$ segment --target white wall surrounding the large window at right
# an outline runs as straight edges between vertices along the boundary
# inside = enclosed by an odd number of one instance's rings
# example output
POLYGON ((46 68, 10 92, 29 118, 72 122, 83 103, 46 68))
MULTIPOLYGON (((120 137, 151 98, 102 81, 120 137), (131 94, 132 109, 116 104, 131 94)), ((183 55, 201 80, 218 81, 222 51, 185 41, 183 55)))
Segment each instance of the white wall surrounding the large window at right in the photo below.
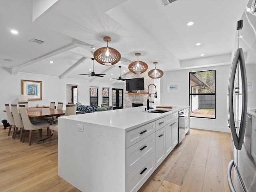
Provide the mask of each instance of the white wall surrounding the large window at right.
POLYGON ((161 78, 161 104, 189 106, 189 72, 216 70, 216 119, 190 118, 190 127, 230 132, 227 124, 227 94, 230 68, 231 65, 223 65, 164 72, 164 76, 161 78), (179 91, 168 93, 168 82, 179 82, 179 91))

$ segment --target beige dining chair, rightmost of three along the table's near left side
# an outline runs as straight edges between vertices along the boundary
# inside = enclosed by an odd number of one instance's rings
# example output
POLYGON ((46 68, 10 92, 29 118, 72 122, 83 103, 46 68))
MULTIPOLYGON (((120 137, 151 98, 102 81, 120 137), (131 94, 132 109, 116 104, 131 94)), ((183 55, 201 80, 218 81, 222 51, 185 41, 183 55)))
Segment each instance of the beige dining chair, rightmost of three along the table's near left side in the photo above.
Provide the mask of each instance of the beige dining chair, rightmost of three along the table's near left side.
POLYGON ((30 119, 28 118, 28 112, 24 105, 20 105, 20 114, 24 124, 24 128, 23 128, 24 133, 23 133, 22 143, 24 143, 25 141, 26 131, 29 130, 28 145, 31 145, 32 131, 39 130, 39 135, 40 137, 42 137, 42 128, 49 128, 50 124, 45 122, 40 122, 40 121, 31 122, 30 119))

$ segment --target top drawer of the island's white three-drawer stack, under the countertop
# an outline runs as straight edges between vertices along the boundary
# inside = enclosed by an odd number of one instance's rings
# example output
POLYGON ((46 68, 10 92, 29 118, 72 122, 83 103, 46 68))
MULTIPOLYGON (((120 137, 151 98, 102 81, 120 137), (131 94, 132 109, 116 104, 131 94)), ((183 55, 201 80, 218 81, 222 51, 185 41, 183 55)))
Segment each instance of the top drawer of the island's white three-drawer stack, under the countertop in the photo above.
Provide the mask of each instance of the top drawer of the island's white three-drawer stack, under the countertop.
POLYGON ((146 136, 155 132, 155 122, 143 125, 126 132, 126 148, 144 139, 146 136))

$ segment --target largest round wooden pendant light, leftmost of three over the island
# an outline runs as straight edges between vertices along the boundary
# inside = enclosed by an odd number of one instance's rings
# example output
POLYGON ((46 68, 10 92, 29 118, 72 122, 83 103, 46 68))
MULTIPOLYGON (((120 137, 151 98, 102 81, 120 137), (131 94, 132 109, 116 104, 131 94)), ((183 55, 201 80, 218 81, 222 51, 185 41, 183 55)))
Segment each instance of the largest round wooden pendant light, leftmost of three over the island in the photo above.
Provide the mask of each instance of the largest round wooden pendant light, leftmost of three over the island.
POLYGON ((103 40, 107 42, 107 46, 97 49, 93 54, 94 59, 102 65, 114 65, 120 61, 121 54, 118 50, 108 47, 111 37, 104 37, 103 40))

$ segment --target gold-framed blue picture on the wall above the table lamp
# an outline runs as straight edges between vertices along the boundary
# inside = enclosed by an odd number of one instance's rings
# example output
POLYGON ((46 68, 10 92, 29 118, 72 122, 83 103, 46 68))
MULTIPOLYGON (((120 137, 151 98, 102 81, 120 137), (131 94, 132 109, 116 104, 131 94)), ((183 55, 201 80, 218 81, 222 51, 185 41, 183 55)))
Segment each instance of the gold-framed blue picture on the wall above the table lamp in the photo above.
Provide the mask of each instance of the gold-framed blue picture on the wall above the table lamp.
POLYGON ((42 100, 42 81, 21 80, 21 94, 28 100, 42 100))

